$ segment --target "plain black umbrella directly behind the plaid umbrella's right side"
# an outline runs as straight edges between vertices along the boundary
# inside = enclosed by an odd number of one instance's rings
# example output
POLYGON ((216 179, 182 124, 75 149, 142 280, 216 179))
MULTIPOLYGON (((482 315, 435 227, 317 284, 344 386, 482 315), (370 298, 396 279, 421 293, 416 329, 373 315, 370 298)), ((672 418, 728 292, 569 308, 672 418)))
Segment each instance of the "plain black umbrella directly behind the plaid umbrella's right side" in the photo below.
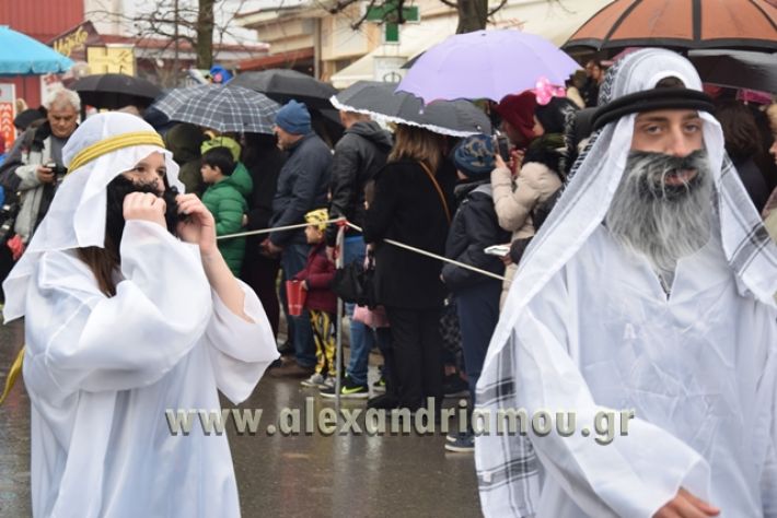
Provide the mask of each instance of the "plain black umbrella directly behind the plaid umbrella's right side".
POLYGON ((244 72, 227 84, 254 90, 281 104, 294 99, 318 109, 332 108, 328 99, 337 93, 330 84, 289 69, 244 72))

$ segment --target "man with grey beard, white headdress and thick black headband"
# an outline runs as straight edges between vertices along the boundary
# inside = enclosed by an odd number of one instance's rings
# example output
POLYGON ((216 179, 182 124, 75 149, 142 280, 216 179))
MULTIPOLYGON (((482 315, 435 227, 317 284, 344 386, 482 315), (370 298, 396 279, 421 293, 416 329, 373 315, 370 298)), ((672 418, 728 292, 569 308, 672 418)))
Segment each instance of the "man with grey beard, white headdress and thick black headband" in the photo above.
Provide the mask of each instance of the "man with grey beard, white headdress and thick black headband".
POLYGON ((478 382, 486 516, 777 516, 777 250, 700 91, 658 49, 602 84, 478 382), (510 409, 554 428, 499 434, 510 409))

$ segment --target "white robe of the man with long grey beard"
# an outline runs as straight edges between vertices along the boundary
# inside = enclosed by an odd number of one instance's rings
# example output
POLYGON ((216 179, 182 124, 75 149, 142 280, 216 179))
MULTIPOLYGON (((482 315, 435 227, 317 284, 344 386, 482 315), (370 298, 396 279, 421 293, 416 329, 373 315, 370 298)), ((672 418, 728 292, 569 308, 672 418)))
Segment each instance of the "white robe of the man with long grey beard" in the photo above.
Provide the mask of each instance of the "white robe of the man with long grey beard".
POLYGON ((645 259, 594 231, 513 331, 521 407, 578 421, 532 437, 536 516, 651 517, 681 486, 723 518, 777 516, 776 318, 740 295, 719 238, 679 262, 668 299, 645 259), (603 409, 634 409, 628 436, 581 435, 603 409))

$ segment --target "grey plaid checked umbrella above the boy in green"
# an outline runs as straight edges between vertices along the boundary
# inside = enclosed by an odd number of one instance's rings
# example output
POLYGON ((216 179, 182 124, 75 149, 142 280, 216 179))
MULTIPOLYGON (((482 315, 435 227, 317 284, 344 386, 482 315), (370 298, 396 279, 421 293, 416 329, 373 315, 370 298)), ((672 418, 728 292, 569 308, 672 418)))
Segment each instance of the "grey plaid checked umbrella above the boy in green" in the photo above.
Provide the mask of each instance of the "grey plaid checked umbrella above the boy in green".
POLYGON ((219 132, 272 133, 280 105, 253 90, 200 84, 175 89, 154 103, 171 120, 206 126, 219 132))

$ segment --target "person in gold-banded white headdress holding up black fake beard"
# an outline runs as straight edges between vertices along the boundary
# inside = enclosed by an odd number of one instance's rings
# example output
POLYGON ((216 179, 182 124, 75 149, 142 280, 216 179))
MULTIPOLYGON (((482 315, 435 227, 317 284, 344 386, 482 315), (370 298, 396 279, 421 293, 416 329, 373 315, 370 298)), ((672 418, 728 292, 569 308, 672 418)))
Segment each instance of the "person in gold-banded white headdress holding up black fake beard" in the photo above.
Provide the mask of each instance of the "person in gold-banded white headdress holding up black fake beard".
POLYGON ((3 287, 25 317, 35 516, 240 516, 227 437, 166 412, 220 414, 277 357, 232 276, 213 217, 162 139, 101 114, 62 151, 69 174, 3 287))

